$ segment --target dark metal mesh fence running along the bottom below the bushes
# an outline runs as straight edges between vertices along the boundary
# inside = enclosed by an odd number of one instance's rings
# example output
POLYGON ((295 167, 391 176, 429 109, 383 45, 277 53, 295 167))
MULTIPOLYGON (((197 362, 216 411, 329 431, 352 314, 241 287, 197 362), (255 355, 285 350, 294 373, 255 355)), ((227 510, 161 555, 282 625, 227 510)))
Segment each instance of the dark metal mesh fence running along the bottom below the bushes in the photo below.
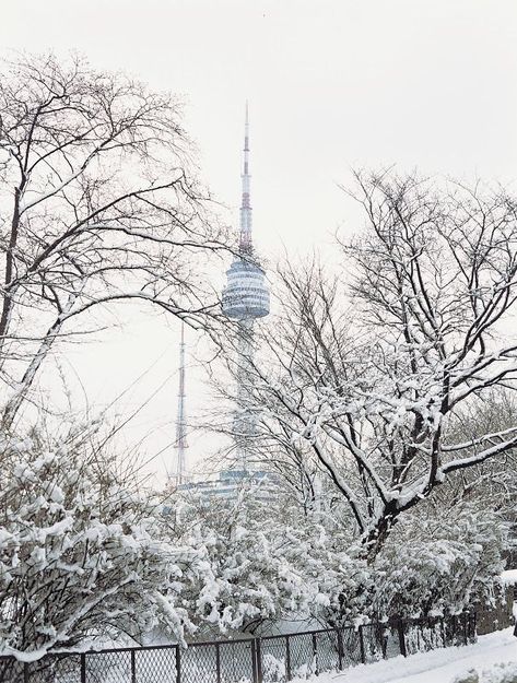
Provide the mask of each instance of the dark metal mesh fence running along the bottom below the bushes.
POLYGON ((475 614, 261 638, 0 657, 2 683, 283 683, 397 655, 475 641, 475 614))

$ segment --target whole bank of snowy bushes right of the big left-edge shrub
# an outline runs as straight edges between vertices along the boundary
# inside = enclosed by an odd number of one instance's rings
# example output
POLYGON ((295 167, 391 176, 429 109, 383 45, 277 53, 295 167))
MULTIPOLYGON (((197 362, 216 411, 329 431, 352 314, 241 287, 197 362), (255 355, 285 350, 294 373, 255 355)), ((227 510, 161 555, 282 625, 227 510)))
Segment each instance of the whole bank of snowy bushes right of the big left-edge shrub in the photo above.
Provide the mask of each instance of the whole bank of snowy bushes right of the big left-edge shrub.
POLYGON ((172 544, 196 549, 178 604, 201 632, 456 614, 500 596, 508 525, 473 504, 446 519, 423 506, 368 562, 330 515, 305 516, 280 492, 266 504, 243 494, 209 504, 184 497, 162 520, 172 544))

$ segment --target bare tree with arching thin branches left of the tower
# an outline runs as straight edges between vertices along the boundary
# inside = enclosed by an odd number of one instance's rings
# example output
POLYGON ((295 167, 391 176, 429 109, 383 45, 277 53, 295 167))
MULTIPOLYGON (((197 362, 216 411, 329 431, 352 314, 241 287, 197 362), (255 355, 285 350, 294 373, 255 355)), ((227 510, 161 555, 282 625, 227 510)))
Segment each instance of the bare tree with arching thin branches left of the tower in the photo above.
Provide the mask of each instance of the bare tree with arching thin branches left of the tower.
POLYGON ((121 74, 52 56, 0 81, 0 378, 12 423, 56 339, 121 299, 191 323, 213 313, 209 226, 180 106, 121 74), (73 322, 72 322, 73 319, 73 322))

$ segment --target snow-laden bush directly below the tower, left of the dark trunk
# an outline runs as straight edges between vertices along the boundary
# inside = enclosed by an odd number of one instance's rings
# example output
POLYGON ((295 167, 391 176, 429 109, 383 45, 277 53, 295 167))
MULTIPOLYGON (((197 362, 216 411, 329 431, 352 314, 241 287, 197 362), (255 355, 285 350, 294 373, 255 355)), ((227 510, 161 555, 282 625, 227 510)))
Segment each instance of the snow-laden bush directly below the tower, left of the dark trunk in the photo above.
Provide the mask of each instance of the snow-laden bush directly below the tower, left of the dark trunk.
POLYGON ((164 515, 172 542, 198 552, 180 604, 202 629, 252 629, 328 603, 324 530, 294 526, 274 509, 252 496, 209 505, 190 497, 164 515))

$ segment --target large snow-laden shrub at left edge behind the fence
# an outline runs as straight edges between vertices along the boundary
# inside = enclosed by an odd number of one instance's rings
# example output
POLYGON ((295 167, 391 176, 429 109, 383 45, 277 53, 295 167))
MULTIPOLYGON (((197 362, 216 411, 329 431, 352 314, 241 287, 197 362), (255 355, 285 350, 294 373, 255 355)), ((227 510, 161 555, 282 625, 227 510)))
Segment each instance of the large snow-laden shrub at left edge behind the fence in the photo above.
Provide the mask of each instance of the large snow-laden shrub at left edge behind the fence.
POLYGON ((2 444, 2 653, 138 638, 157 624, 181 638, 174 597, 195 552, 162 540, 149 498, 120 481, 91 432, 2 444))

